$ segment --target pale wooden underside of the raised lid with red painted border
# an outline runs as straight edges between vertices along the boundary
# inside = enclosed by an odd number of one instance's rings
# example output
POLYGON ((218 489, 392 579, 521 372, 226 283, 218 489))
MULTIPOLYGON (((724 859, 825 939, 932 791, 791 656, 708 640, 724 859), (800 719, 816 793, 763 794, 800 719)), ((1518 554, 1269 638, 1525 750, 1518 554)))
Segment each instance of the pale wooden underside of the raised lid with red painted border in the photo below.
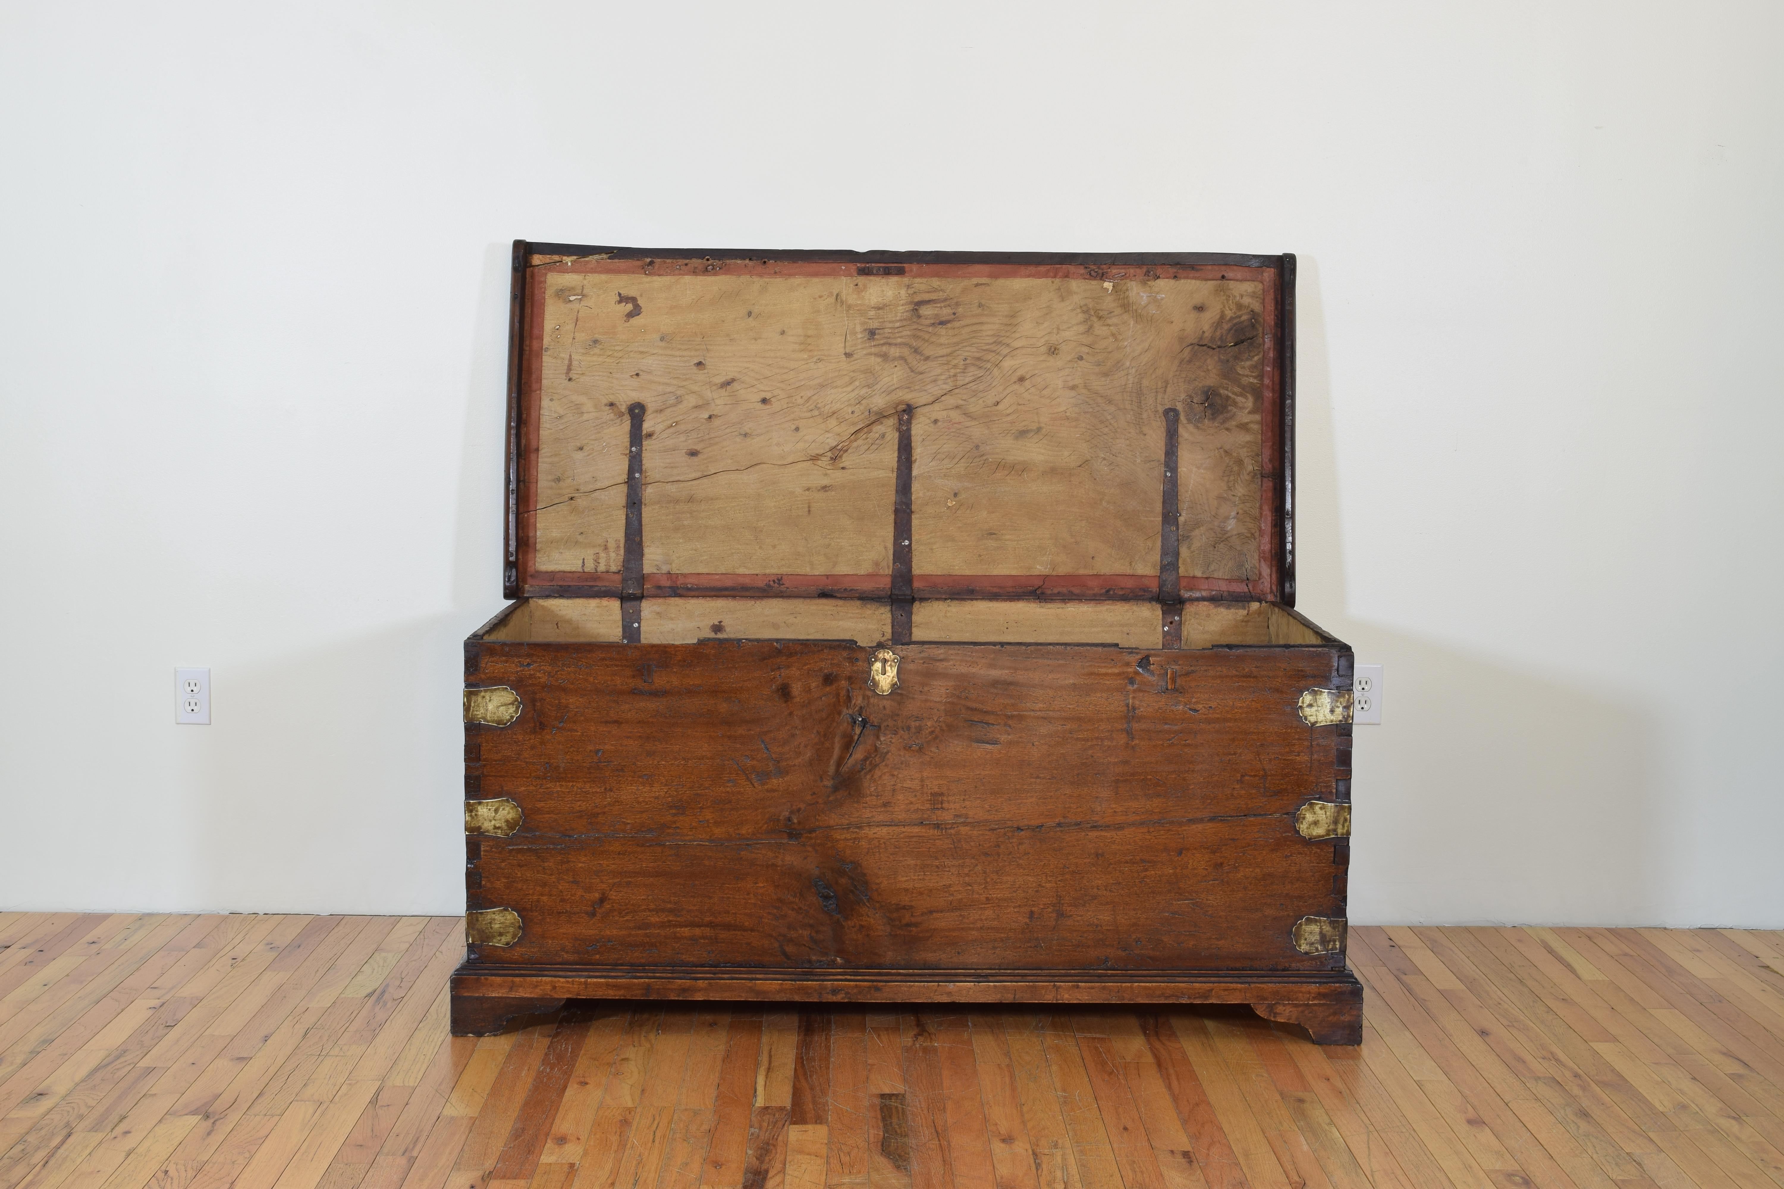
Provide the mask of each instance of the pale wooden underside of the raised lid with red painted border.
POLYGON ((1260 579, 1267 271, 640 267, 535 267, 533 572, 621 569, 640 401, 648 572, 887 574, 910 403, 919 574, 1156 574, 1179 408, 1181 572, 1260 579))

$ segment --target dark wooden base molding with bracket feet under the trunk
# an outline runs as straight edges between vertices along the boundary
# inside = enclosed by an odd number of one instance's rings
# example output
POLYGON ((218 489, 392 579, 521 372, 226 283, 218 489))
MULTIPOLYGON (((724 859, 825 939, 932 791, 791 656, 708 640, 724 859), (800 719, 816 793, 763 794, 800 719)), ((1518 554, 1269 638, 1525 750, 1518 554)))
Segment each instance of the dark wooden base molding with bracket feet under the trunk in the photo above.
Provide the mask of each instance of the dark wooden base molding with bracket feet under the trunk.
POLYGON ((1247 1004, 1318 1045, 1363 1039, 1363 984, 1318 973, 1193 972, 1072 977, 999 970, 610 970, 469 961, 451 977, 453 1036, 501 1032, 571 998, 769 1000, 803 1004, 1247 1004))

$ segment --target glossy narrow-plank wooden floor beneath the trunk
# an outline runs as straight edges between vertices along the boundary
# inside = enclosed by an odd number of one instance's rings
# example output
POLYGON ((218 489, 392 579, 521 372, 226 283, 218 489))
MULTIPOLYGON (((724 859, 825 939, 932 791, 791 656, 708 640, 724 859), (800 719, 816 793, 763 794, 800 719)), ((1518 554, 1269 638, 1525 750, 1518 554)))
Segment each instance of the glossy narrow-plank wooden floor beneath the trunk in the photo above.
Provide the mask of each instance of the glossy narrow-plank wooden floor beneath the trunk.
POLYGON ((573 1005, 457 918, 0 914, 0 1189, 1784 1185, 1784 934, 1358 929, 1249 1011, 573 1005))

